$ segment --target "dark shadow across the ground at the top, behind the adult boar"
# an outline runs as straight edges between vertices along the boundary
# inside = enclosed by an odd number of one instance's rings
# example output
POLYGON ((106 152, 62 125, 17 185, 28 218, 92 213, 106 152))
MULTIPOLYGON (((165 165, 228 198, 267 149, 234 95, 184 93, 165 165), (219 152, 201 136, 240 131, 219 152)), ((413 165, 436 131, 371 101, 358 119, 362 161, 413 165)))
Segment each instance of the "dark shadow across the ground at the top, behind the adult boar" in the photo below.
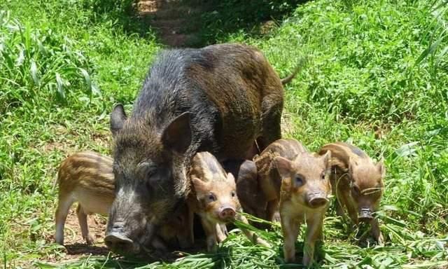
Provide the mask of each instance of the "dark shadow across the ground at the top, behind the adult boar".
POLYGON ((201 47, 244 31, 262 35, 307 0, 85 0, 94 20, 169 47, 201 47))

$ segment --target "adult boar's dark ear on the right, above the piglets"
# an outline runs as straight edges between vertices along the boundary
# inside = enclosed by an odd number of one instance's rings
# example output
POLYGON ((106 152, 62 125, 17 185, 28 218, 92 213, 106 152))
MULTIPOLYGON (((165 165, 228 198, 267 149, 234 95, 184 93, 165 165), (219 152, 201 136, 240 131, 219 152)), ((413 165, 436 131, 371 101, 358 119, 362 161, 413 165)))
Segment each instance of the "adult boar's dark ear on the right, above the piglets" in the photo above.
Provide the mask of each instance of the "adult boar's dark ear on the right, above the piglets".
POLYGON ((165 127, 162 143, 168 149, 184 153, 191 144, 190 112, 182 113, 165 127))

